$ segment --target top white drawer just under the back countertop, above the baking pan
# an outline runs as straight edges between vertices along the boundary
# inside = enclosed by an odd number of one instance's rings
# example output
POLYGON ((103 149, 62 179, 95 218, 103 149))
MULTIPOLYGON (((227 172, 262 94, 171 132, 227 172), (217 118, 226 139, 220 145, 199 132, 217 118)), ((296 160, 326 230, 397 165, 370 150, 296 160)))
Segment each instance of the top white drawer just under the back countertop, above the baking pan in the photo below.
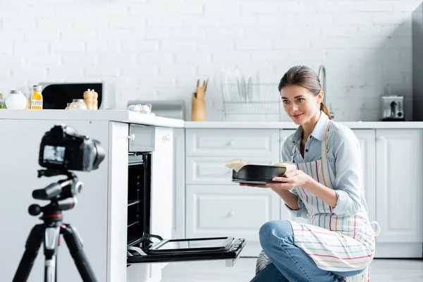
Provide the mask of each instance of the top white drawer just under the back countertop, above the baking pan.
POLYGON ((277 129, 188 129, 187 156, 278 157, 277 129))

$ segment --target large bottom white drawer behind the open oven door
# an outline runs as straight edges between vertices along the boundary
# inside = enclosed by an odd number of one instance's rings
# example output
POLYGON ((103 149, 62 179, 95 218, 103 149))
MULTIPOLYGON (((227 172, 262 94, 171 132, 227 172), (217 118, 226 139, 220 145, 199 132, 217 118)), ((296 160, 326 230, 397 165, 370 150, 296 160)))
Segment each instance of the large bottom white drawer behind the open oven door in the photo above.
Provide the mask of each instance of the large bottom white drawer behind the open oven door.
POLYGON ((267 188, 187 185, 187 238, 231 235, 259 241, 259 228, 278 220, 280 197, 267 188))

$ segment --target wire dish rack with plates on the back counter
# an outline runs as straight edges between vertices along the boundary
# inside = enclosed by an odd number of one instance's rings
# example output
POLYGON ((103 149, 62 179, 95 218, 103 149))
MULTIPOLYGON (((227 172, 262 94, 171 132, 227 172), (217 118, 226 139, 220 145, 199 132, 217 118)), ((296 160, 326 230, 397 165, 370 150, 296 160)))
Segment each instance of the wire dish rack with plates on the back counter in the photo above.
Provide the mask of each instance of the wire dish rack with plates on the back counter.
POLYGON ((224 121, 280 121, 281 94, 274 83, 222 84, 224 121))

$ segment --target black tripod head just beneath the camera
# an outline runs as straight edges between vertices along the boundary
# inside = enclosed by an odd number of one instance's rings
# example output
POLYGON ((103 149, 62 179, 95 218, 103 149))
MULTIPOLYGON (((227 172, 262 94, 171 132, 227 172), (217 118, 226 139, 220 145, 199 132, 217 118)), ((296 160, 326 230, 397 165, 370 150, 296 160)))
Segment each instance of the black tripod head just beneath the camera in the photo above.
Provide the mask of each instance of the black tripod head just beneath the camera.
POLYGON ((39 204, 31 204, 28 212, 32 216, 44 213, 42 216, 44 220, 61 221, 61 212, 75 207, 77 203, 75 195, 81 192, 82 182, 74 173, 71 171, 50 168, 38 171, 38 178, 42 176, 52 177, 60 175, 67 176, 67 178, 51 183, 45 188, 32 191, 32 197, 34 199, 50 200, 50 203, 44 207, 39 206, 39 204))

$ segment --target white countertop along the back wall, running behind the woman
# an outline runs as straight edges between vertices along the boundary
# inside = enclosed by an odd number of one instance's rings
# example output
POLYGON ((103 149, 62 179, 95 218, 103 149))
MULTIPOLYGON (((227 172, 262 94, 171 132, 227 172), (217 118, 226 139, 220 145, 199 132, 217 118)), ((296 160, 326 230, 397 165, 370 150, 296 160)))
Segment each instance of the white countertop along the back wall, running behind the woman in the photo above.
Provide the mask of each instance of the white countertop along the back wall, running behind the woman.
MULTIPOLYGON (((351 129, 423 128, 423 121, 339 121, 351 129)), ((185 128, 296 129, 292 122, 185 121, 185 128)))

